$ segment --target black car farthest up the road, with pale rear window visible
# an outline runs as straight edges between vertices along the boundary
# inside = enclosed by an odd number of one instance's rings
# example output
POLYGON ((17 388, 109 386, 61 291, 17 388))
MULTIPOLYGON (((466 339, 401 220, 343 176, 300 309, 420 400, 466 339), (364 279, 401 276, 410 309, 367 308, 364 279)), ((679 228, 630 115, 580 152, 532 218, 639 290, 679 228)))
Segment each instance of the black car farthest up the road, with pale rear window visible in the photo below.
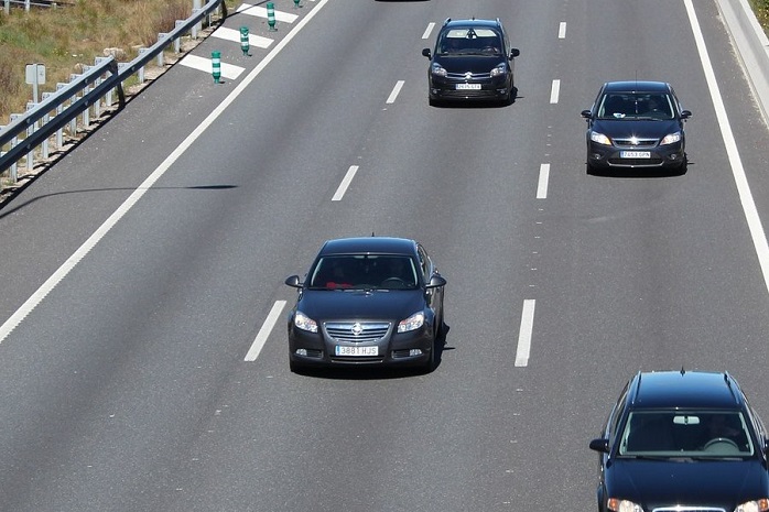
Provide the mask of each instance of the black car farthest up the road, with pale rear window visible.
POLYGON ((516 99, 513 79, 518 48, 501 21, 447 19, 435 41, 434 52, 422 50, 430 58, 427 69, 430 105, 440 100, 516 99))

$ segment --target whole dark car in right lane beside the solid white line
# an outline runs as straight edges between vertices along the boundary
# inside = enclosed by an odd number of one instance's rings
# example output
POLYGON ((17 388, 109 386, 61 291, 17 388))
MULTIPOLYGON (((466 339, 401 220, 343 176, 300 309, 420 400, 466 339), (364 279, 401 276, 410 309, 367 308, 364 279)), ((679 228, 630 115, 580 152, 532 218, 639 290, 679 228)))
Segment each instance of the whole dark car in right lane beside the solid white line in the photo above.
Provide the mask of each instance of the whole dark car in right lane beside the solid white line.
POLYGON ((587 120, 587 174, 597 171, 663 170, 686 172, 683 110, 664 81, 607 81, 587 120))

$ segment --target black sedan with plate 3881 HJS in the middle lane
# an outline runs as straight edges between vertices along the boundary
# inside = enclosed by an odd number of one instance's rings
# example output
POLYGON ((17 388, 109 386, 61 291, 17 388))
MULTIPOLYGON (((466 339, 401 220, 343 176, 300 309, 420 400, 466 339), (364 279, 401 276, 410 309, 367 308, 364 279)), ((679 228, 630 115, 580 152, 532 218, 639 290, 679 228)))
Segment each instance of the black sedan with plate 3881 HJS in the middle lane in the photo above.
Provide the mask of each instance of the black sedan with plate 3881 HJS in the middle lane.
POLYGON ((441 276, 427 251, 404 238, 326 241, 289 316, 289 363, 303 367, 436 366, 443 335, 441 276))

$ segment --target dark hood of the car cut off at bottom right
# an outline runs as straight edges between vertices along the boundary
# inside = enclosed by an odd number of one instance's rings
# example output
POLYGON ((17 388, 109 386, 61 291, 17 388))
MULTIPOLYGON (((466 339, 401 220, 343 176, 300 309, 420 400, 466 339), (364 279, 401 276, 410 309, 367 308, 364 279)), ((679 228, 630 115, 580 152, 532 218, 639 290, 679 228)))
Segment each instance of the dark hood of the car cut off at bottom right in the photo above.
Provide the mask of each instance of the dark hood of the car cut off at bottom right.
POLYGON ((768 492, 767 471, 758 460, 615 459, 606 476, 610 495, 635 501, 643 510, 680 504, 732 511, 768 492))

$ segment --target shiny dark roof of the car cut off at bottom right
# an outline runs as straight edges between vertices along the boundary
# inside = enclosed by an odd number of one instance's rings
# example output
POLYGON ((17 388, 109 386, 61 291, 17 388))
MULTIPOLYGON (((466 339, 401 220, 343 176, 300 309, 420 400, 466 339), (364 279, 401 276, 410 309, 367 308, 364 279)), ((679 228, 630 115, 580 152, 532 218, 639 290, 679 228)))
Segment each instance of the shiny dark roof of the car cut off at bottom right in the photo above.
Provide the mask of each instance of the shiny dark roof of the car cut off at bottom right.
POLYGON ((630 385, 632 408, 743 407, 743 392, 728 373, 660 371, 638 373, 630 385))

